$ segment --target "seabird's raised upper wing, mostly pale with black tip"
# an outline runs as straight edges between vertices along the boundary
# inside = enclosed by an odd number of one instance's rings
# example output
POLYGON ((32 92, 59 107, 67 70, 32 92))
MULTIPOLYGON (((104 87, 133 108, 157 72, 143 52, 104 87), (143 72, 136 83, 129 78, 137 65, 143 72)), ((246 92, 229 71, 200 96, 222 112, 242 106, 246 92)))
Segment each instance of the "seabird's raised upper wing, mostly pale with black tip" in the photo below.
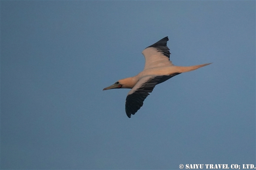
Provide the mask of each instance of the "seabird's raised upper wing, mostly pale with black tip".
POLYGON ((163 66, 173 66, 170 61, 170 49, 167 47, 168 37, 157 41, 155 44, 150 45, 142 51, 145 57, 145 67, 144 69, 163 67, 163 66))

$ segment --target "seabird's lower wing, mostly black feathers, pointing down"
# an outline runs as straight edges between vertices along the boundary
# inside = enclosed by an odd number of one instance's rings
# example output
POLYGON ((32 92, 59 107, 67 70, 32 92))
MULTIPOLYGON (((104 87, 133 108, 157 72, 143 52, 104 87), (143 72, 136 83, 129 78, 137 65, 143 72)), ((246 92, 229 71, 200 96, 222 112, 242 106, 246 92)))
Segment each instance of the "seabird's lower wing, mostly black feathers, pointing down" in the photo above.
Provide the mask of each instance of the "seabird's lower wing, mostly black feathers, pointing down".
POLYGON ((135 114, 143 105, 143 101, 152 92, 155 85, 162 83, 169 78, 174 77, 180 73, 172 75, 147 75, 142 77, 138 83, 131 89, 126 97, 125 112, 130 118, 131 114, 135 114))

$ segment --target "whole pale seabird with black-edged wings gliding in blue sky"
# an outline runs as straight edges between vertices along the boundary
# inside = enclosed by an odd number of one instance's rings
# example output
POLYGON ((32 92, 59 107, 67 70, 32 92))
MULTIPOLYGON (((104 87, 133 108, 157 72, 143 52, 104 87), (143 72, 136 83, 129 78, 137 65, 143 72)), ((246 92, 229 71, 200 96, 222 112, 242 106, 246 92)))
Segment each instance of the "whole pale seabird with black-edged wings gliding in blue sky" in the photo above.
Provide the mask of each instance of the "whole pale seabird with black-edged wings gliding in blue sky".
POLYGON ((157 41, 142 51, 145 57, 145 66, 142 72, 134 77, 128 77, 116 81, 109 89, 131 89, 126 96, 125 112, 131 118, 143 105, 144 100, 152 92, 157 84, 181 74, 207 66, 212 63, 194 66, 175 66, 170 61, 170 49, 167 47, 168 36, 157 41))

